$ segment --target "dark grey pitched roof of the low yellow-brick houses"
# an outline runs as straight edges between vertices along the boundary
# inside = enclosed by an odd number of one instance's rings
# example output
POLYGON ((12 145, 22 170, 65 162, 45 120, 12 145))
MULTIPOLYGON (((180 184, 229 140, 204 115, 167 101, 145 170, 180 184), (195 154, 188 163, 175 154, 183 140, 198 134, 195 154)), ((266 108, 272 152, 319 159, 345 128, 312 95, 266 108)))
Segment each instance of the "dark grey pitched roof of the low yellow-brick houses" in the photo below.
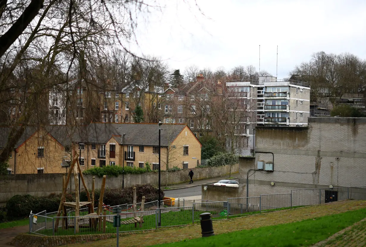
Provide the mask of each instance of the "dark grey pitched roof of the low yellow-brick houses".
MULTIPOLYGON (((168 146, 186 127, 185 124, 163 124, 161 126, 161 146, 168 146)), ((15 148, 22 145, 37 127, 26 127, 15 148)), ((78 143, 107 143, 114 136, 119 144, 134 146, 157 146, 158 124, 146 123, 91 123, 88 126, 45 126, 44 129, 63 146, 78 143)), ((4 147, 8 140, 10 127, 0 128, 0 147, 4 147)))

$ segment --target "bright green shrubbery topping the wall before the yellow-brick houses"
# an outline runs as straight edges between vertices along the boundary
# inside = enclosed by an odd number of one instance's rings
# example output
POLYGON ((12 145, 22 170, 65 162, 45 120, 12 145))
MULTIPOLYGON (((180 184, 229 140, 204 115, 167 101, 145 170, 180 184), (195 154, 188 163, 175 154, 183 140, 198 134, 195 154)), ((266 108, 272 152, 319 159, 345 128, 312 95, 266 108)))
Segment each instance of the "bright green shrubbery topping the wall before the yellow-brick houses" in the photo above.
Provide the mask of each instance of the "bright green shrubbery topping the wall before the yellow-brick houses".
MULTIPOLYGON (((123 167, 122 166, 115 166, 115 165, 108 165, 104 167, 93 167, 90 169, 87 169, 83 173, 85 175, 93 175, 102 177, 103 175, 107 176, 115 176, 118 177, 118 175, 122 175, 123 167)), ((140 174, 147 172, 147 168, 139 168, 139 167, 130 167, 125 166, 124 167, 124 174, 131 173, 131 174, 140 174)))

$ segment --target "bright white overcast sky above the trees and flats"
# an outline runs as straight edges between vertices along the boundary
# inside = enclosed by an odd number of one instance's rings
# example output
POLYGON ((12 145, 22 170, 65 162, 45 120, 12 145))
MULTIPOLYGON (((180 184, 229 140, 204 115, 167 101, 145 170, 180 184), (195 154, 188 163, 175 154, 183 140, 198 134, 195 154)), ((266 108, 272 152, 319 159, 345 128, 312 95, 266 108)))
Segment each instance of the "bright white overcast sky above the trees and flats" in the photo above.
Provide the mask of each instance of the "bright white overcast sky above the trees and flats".
POLYGON ((279 79, 321 50, 366 59, 365 0, 197 0, 204 15, 187 1, 167 0, 161 12, 140 18, 131 50, 183 73, 191 64, 258 70, 261 45, 261 70, 276 76, 278 45, 279 79))

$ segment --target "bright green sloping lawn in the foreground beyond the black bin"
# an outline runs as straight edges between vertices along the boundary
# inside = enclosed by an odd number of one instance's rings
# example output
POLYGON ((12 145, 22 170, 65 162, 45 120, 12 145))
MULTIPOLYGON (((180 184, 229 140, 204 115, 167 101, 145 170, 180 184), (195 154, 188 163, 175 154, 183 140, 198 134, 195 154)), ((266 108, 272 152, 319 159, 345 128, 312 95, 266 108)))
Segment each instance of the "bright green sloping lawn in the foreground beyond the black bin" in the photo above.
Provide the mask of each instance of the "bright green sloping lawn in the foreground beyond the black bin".
POLYGON ((363 208, 320 218, 223 233, 205 238, 184 239, 180 242, 154 246, 310 246, 365 217, 366 208, 363 208))

